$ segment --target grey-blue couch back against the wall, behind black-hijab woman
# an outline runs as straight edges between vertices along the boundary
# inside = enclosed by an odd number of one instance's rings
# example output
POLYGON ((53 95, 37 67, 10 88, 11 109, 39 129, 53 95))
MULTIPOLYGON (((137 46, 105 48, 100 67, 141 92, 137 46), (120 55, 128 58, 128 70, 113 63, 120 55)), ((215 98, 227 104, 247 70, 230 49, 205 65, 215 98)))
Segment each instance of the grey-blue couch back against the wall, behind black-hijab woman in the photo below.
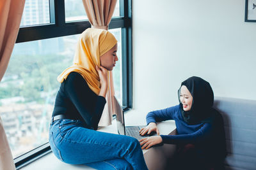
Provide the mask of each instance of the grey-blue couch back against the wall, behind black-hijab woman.
POLYGON ((226 169, 256 169, 256 101, 215 97, 225 126, 226 169))

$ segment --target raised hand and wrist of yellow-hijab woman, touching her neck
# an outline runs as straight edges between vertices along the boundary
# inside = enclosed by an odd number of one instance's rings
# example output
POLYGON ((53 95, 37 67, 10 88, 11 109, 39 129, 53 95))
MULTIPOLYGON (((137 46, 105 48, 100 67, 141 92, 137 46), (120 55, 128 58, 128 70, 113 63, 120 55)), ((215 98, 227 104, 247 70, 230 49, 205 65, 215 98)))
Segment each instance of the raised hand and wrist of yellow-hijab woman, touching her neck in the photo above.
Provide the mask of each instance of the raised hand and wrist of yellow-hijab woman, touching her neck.
POLYGON ((96 66, 96 70, 100 77, 100 92, 99 96, 106 97, 106 93, 108 90, 108 70, 102 66, 96 66))

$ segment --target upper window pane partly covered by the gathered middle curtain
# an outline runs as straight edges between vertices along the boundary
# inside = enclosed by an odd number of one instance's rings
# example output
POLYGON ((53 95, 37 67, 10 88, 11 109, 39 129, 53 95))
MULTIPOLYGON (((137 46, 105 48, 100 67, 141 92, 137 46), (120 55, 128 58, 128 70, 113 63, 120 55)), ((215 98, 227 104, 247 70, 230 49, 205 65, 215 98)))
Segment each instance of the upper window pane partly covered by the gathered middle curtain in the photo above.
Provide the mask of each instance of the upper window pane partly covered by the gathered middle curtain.
MULTIPOLYGON (((119 4, 119 1, 117 1, 113 17, 120 16, 119 4)), ((65 0, 65 20, 66 22, 88 20, 82 1, 65 0)))

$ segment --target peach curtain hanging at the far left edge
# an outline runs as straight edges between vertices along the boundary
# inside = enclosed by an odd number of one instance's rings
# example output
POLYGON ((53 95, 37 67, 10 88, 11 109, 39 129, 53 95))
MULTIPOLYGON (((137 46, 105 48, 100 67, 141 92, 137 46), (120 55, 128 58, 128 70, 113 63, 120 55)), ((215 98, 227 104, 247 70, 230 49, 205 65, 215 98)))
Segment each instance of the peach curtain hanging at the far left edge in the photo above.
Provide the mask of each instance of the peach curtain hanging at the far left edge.
MULTIPOLYGON (((8 66, 19 32, 25 0, 0 1, 0 81, 8 66)), ((15 169, 12 152, 0 117, 0 169, 15 169)))

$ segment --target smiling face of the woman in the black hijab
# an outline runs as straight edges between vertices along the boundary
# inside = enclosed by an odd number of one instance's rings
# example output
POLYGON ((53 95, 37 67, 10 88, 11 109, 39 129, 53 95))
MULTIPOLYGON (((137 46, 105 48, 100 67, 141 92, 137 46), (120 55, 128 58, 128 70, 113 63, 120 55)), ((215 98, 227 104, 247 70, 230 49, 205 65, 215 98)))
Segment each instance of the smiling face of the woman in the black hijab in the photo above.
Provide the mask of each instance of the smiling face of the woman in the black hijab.
POLYGON ((191 110, 191 106, 193 104, 193 97, 191 96, 191 93, 185 85, 182 85, 182 87, 180 88, 180 103, 182 103, 184 111, 191 110))

